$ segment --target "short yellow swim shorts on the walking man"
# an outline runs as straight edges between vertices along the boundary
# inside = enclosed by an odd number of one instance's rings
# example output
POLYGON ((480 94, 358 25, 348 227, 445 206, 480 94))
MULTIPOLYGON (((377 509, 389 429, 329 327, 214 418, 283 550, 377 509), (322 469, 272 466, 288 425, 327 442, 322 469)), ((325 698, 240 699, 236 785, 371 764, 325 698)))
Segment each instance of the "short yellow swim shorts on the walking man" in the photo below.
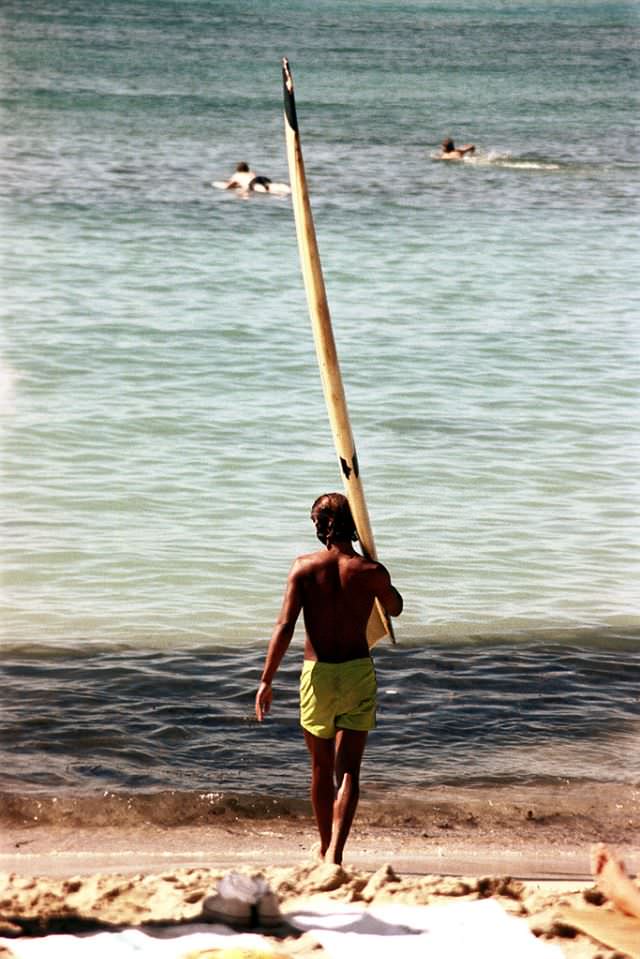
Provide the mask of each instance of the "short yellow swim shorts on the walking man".
POLYGON ((305 659, 300 674, 300 725, 321 739, 332 739, 336 729, 375 729, 377 688, 370 656, 346 663, 305 659))

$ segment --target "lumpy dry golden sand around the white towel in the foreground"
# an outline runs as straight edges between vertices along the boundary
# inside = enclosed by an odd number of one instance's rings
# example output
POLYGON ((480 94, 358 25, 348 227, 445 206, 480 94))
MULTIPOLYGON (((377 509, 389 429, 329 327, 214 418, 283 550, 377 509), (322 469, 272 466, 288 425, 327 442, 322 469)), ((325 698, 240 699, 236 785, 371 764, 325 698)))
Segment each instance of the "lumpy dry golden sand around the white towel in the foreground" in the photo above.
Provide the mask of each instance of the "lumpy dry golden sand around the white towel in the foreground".
MULTIPOLYGON (((264 876, 277 893, 285 914, 302 904, 326 906, 328 900, 430 905, 491 896, 509 913, 526 919, 536 935, 559 944, 568 959, 613 959, 624 955, 581 933, 562 918, 563 906, 611 908, 592 883, 523 882, 502 876, 402 875, 389 865, 371 873, 315 862, 260 870, 243 867, 243 871, 264 876)), ((215 891, 216 881, 224 872, 201 866, 151 874, 95 873, 66 879, 7 875, 0 889, 0 935, 33 936, 202 921, 203 900, 215 891)), ((277 936, 279 951, 286 955, 321 953, 311 933, 299 936, 283 925, 268 934, 277 936)), ((10 956, 11 951, 4 955, 10 956)))

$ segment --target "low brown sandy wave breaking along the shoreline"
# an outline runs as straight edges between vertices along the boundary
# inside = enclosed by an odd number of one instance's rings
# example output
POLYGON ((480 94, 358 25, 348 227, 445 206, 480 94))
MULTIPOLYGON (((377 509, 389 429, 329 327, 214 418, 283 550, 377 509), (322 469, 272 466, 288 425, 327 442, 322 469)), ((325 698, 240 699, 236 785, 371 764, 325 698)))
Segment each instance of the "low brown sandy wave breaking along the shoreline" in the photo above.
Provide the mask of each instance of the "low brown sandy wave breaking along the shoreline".
MULTIPOLYGON (((526 783, 487 778, 475 781, 473 777, 466 777, 464 782, 455 785, 438 782, 420 789, 406 786, 402 781, 387 787, 371 784, 361 797, 358 821, 361 826, 407 828, 419 823, 433 823, 446 809, 447 822, 455 829, 470 822, 475 825, 479 809, 483 810, 486 825, 492 817, 504 823, 505 817, 513 819, 514 815, 522 822, 530 822, 532 814, 524 810, 535 808, 541 813, 540 821, 544 817, 547 824, 555 821, 562 827, 563 821, 570 818, 574 823, 589 823, 592 827, 597 814, 594 789, 597 789, 599 815, 610 828, 623 828, 622 824, 628 821, 636 807, 636 786, 602 777, 586 777, 573 782, 564 777, 552 777, 526 783)), ((37 827, 90 829, 93 836, 98 836, 96 830, 107 828, 113 836, 117 830, 148 830, 150 826, 196 829, 233 825, 251 829, 260 822, 276 820, 281 824, 311 821, 310 801, 282 795, 185 790, 94 795, 0 792, 0 825, 12 830, 37 827)), ((28 855, 28 851, 25 852, 28 855)))

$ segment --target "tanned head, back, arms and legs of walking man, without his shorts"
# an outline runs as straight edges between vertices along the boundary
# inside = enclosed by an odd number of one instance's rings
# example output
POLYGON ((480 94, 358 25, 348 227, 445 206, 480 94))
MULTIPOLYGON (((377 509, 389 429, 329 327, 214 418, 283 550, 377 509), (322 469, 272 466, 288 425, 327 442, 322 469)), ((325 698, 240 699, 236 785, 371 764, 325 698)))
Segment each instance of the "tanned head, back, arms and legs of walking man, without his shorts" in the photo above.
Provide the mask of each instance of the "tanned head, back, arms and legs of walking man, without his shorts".
MULTIPOLYGON (((340 493, 319 497, 311 517, 325 548, 299 556, 289 573, 256 695, 259 721, 271 706, 271 683, 301 611, 304 658, 319 663, 346 663, 370 656, 367 623, 376 598, 389 615, 402 612, 402 597, 385 567, 361 556, 352 546, 355 528, 346 498, 340 493)), ((320 855, 328 862, 341 863, 358 804, 367 732, 337 728, 335 736, 324 738, 305 729, 304 735, 311 756, 311 799, 320 855)))

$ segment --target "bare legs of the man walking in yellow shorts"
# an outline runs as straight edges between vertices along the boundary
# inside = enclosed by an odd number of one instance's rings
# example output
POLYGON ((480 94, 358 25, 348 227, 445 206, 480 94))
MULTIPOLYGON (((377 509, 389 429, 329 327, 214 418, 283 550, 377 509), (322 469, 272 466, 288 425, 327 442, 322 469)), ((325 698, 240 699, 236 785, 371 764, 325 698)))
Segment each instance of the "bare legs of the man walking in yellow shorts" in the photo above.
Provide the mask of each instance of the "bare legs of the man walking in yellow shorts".
POLYGON ((360 798, 360 766, 367 733, 339 729, 334 739, 304 731, 311 754, 311 802, 320 833, 320 855, 340 864, 360 798))

